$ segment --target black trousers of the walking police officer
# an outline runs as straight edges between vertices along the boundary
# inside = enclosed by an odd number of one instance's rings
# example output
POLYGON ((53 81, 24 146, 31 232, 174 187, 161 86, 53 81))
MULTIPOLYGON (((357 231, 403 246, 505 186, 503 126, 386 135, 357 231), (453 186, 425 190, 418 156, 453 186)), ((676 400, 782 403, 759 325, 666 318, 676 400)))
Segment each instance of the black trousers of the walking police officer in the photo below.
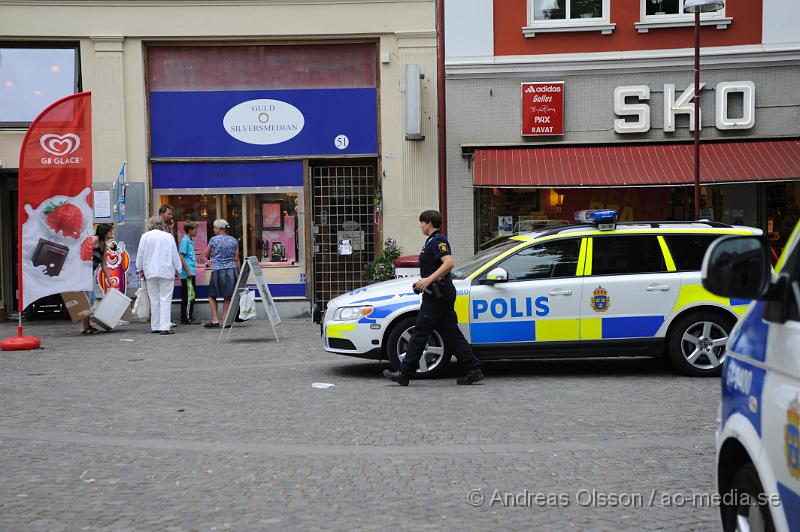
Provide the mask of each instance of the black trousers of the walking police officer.
POLYGON ((455 301, 456 289, 451 282, 445 283, 441 298, 429 294, 422 295, 422 306, 417 314, 414 333, 406 346, 406 357, 403 359, 400 371, 408 376, 414 375, 419 368, 419 359, 425 350, 428 336, 434 329, 442 336, 447 352, 453 353, 467 371, 481 367, 475 358, 475 353, 472 352, 472 346, 458 328, 458 318, 453 309, 455 301))

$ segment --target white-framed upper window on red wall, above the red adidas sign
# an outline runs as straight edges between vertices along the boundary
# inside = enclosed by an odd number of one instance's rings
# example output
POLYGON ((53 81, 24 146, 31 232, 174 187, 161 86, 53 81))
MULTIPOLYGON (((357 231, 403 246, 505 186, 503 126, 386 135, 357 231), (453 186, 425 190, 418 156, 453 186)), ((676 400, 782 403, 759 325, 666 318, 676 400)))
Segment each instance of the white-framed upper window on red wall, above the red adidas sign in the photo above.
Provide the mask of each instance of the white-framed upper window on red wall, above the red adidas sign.
POLYGON ((526 37, 537 33, 599 31, 610 34, 610 0, 528 0, 526 37))

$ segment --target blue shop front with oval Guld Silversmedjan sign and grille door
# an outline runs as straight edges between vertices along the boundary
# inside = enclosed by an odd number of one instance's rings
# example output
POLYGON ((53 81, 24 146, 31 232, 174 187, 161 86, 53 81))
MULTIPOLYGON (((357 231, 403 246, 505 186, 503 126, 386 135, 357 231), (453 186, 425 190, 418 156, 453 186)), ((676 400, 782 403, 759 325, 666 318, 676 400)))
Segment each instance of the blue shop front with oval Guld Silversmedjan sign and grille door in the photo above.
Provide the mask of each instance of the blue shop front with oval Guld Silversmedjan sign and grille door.
POLYGON ((199 299, 217 218, 243 258, 258 258, 276 299, 324 304, 364 284, 380 242, 376 50, 149 47, 151 211, 174 207, 178 240, 186 221, 199 224, 199 299))

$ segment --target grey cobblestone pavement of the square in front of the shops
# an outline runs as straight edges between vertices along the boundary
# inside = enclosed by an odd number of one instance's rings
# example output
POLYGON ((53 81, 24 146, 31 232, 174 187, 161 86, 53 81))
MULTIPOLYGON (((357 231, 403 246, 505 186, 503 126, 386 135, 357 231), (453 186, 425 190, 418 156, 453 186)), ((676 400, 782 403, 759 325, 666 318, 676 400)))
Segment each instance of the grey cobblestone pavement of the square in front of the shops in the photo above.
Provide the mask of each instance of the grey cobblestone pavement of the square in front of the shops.
POLYGON ((718 379, 533 361, 402 388, 308 320, 219 346, 77 329, 34 322, 44 349, 0 353, 2 530, 719 528, 718 379))

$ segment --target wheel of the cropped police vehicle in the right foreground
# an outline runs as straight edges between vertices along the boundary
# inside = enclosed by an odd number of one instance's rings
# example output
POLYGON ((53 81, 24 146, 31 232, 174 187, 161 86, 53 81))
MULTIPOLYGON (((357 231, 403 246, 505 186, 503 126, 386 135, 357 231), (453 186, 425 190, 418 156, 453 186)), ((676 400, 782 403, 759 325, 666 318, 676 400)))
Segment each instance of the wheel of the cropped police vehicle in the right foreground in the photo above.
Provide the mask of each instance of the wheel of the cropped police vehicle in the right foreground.
POLYGON ((732 500, 723 498, 723 526, 726 532, 772 532, 775 525, 769 514, 764 488, 758 479, 758 472, 753 464, 743 466, 733 477, 731 483, 732 500), (763 504, 759 504, 763 503, 763 504))

